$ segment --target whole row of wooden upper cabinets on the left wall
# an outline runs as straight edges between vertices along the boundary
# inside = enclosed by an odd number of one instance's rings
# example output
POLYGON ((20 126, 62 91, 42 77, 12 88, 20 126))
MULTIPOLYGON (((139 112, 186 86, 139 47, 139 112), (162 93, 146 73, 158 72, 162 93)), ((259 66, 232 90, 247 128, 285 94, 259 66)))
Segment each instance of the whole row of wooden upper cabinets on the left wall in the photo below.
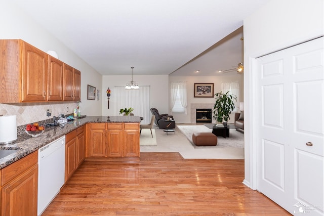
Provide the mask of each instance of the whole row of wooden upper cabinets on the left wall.
POLYGON ((27 42, 0 39, 0 103, 78 101, 80 80, 80 71, 27 42))

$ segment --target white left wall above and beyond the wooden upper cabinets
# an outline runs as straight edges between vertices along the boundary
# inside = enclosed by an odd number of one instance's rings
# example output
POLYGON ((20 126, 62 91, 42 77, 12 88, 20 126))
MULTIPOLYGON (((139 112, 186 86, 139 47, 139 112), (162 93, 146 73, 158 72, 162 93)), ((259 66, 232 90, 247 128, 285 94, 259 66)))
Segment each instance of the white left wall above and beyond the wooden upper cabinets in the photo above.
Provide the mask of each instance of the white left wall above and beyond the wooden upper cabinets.
POLYGON ((81 71, 82 114, 101 115, 102 102, 87 100, 87 84, 102 89, 102 75, 39 26, 36 21, 30 19, 19 7, 9 2, 1 2, 0 39, 23 39, 44 52, 56 51, 61 61, 81 71))

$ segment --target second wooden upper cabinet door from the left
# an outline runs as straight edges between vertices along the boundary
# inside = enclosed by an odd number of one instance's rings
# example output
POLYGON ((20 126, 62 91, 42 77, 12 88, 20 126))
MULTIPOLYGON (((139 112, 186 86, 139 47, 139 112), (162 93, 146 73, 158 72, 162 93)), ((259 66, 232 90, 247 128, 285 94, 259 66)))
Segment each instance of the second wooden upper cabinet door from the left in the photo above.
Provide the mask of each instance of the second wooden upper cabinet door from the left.
POLYGON ((48 58, 48 101, 63 100, 63 62, 49 55, 48 58))

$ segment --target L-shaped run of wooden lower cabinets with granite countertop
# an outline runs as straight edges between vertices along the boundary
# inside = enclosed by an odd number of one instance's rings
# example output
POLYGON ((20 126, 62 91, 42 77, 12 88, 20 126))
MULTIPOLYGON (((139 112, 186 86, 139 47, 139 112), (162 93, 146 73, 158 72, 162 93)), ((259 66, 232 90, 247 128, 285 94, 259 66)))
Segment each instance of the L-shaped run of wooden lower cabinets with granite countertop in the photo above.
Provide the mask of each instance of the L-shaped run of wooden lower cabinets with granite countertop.
MULTIPOLYGON (((62 160, 65 157, 65 161, 59 172, 63 175, 62 184, 65 184, 84 160, 139 160, 140 121, 139 116, 90 116, 74 119, 64 126, 48 126, 38 137, 30 137, 22 126, 17 127, 17 141, 0 146, 0 150, 16 151, 0 159, 0 214, 22 215, 24 212, 24 215, 38 215, 37 210, 43 210, 38 206, 39 201, 47 196, 42 193, 38 197, 37 192, 42 183, 39 177, 47 176, 48 170, 39 167, 49 163, 39 160, 38 156, 45 154, 44 151, 39 153, 38 149, 43 146, 45 148, 41 150, 51 149, 53 141, 65 136, 65 153, 62 151, 60 157, 62 160)), ((53 181, 56 185, 56 180, 53 181)))

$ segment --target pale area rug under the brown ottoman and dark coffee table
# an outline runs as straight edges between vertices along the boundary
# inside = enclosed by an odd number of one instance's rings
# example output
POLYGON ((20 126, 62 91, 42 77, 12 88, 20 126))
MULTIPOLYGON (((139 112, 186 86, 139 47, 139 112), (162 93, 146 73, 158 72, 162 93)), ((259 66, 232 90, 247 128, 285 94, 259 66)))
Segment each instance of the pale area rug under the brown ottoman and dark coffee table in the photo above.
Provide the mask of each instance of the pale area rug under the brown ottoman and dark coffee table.
POLYGON ((179 130, 187 137, 194 148, 244 148, 244 133, 236 131, 236 129, 229 130, 229 137, 217 137, 216 146, 196 146, 192 142, 192 134, 194 132, 210 132, 212 129, 205 125, 177 125, 179 130))

